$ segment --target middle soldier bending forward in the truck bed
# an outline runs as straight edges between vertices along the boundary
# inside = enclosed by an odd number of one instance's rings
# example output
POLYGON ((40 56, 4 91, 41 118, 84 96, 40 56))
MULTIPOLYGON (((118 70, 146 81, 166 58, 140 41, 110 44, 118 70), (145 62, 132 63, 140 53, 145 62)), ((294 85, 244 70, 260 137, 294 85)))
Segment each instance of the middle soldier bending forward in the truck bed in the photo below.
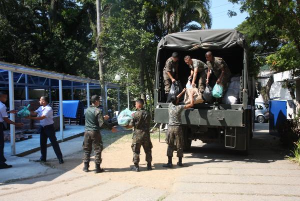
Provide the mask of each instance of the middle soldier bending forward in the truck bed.
POLYGON ((199 74, 199 81, 198 81, 198 89, 200 93, 203 93, 205 90, 205 80, 206 80, 206 73, 205 69, 208 68, 207 65, 197 59, 191 59, 190 56, 184 57, 184 62, 188 65, 190 68, 190 76, 188 77, 188 80, 191 80, 191 86, 195 86, 195 81, 197 74, 199 74))

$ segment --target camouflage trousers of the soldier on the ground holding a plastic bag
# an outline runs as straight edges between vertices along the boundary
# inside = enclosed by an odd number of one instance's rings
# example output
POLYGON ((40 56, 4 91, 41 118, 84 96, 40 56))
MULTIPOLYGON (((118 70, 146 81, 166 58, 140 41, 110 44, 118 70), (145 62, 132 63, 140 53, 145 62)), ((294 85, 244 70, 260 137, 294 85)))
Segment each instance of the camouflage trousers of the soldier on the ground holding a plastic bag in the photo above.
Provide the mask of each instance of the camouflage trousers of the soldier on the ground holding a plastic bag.
POLYGON ((150 140, 150 134, 148 132, 140 132, 140 131, 135 131, 132 136, 132 144, 131 148, 133 151, 133 163, 139 163, 139 154, 140 154, 140 147, 144 149, 145 155, 146 155, 146 161, 148 163, 151 163, 152 161, 152 151, 151 148, 152 143, 150 140))

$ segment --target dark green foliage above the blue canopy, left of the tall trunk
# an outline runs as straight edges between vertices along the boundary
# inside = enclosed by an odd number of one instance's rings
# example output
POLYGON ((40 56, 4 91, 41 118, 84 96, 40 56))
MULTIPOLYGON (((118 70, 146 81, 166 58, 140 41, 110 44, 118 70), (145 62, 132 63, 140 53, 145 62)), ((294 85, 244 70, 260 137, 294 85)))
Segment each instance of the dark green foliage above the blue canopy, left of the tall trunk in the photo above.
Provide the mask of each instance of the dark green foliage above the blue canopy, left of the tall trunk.
POLYGON ((53 2, 0 0, 0 60, 90 77, 93 4, 53 2))

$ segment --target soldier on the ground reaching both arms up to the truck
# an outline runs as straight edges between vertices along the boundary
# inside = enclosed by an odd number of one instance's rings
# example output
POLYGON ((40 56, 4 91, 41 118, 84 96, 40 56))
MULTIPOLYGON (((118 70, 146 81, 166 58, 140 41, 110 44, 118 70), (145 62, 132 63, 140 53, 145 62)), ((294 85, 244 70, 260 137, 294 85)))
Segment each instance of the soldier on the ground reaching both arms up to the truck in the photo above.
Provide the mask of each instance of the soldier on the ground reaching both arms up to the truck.
MULTIPOLYGON (((185 93, 186 88, 183 89, 183 91, 178 94, 178 96, 171 97, 171 102, 168 106, 168 115, 169 115, 169 121, 168 121, 168 129, 165 136, 165 142, 167 143, 167 151, 166 156, 168 158, 168 161, 166 164, 163 164, 163 167, 169 167, 171 168, 173 166, 172 164, 172 157, 173 157, 173 151, 175 148, 174 141, 176 141, 176 147, 177 147, 177 157, 178 162, 177 165, 182 166, 182 157, 183 157, 183 133, 181 128, 181 113, 183 109, 191 108, 193 107, 193 98, 191 98, 190 104, 188 105, 178 105, 178 99, 185 93)), ((192 96, 195 92, 192 92, 192 96)))

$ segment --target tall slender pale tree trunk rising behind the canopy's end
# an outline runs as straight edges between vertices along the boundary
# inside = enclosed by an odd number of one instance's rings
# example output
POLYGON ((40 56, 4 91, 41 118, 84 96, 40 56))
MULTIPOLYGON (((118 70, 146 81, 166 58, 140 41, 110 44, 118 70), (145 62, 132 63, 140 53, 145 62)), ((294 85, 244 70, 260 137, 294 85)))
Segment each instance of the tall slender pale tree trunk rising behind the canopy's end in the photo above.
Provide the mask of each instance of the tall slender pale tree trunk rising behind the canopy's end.
POLYGON ((98 50, 98 63, 99 63, 99 83, 101 87, 101 97, 102 97, 102 106, 103 114, 107 114, 107 105, 106 105, 106 94, 105 94, 105 83, 104 83, 104 68, 102 65, 103 53, 100 44, 100 34, 101 34, 101 0, 96 0, 96 11, 97 11, 97 50, 98 50))

